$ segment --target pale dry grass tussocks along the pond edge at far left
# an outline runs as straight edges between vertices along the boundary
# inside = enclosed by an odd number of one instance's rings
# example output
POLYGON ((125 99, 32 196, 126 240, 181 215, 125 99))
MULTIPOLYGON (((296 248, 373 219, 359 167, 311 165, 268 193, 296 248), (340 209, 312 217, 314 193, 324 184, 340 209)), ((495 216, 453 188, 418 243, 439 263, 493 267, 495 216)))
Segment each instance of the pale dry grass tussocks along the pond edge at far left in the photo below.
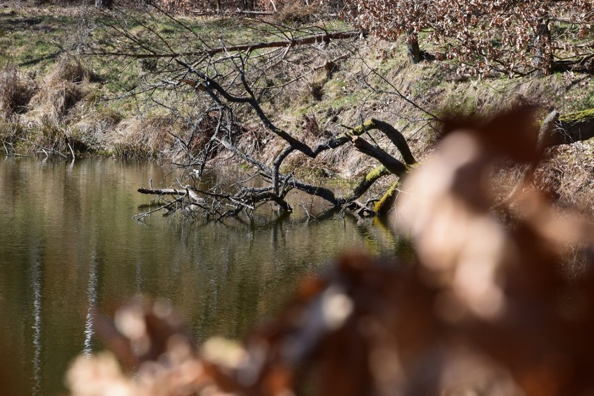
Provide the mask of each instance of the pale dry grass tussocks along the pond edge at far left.
POLYGON ((27 149, 172 157, 176 142, 172 133, 183 135, 181 123, 164 117, 122 121, 123 115, 113 109, 94 108, 85 100, 94 77, 74 56, 63 56, 38 86, 22 79, 16 69, 7 68, 0 79, 1 109, 7 114, 23 113, 17 121, 25 125, 22 142, 29 145, 27 149))

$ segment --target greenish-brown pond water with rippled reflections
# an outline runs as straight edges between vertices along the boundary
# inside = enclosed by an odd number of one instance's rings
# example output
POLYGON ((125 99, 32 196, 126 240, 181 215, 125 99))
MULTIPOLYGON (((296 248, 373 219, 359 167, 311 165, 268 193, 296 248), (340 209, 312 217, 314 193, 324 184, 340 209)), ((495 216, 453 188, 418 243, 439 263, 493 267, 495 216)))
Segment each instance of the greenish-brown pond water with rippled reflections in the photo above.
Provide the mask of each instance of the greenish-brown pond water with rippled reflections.
POLYGON ((197 342, 238 339, 345 248, 396 249, 385 227, 272 206, 243 222, 134 220, 151 199, 137 188, 166 176, 146 163, 0 158, 1 395, 7 383, 13 395, 65 393, 69 362, 102 349, 92 313, 132 296, 167 301, 197 342))

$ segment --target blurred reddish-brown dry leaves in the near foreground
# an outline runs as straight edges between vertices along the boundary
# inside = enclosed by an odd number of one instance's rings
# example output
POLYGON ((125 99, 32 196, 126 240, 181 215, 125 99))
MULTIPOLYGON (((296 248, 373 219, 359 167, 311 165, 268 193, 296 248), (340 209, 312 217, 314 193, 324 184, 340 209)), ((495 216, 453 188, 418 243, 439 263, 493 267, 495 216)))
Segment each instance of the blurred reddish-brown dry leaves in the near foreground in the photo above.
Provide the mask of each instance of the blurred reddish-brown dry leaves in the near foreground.
POLYGON ((163 305, 125 305, 99 330, 128 371, 81 357, 73 396, 592 394, 592 224, 530 185, 501 208, 513 226, 492 214, 489 174, 538 160, 536 138, 526 107, 446 123, 391 215, 413 258, 345 254, 242 344, 195 348, 163 305), (559 263, 576 246, 588 268, 571 280, 559 263))

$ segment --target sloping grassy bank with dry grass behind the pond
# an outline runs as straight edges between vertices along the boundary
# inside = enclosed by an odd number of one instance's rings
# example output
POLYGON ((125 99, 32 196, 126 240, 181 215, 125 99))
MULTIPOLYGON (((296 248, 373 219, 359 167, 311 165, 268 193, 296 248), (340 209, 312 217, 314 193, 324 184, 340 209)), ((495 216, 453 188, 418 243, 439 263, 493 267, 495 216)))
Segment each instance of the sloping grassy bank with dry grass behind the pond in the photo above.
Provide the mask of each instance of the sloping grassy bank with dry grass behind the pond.
MULTIPOLYGON (((89 15, 88 9, 76 7, 9 3, 0 8, 2 149, 8 154, 175 160, 178 139, 188 138, 190 125, 158 105, 168 103, 167 93, 129 94, 150 82, 162 65, 84 56, 83 43, 102 39, 100 26, 89 15)), ((183 23, 185 26, 180 26, 155 16, 137 20, 127 29, 142 37, 141 25, 145 24, 172 42, 185 40, 185 29, 212 45, 222 40, 254 43, 274 38, 266 28, 254 29, 249 20, 238 23, 224 18, 184 17, 183 23)), ((324 23, 349 27, 339 21, 324 23)), ((361 119, 382 119, 401 130, 413 154, 424 160, 432 151, 436 131, 427 123, 427 114, 411 107, 403 97, 438 116, 490 114, 519 101, 561 113, 594 107, 591 75, 565 72, 545 77, 464 77, 457 75, 448 61, 412 65, 405 48, 404 43, 365 38, 349 43, 349 48, 334 58, 328 52, 333 68, 309 68, 307 74, 295 75, 296 82, 265 102, 264 110, 306 142, 342 132, 343 125, 357 125, 361 119)), ((423 50, 432 52, 432 47, 425 45, 423 50)), ((189 98, 178 98, 175 105, 192 111, 189 98)), ((263 138, 263 127, 254 114, 241 115, 250 137, 242 147, 272 158, 279 151, 279 142, 263 138)), ((594 213, 593 147, 589 141, 554 148, 537 172, 542 190, 561 204, 578 204, 583 211, 594 213)), ((353 178, 375 165, 351 146, 328 151, 314 160, 294 155, 287 163, 309 176, 341 178, 353 178)), ((503 190, 511 188, 514 181, 513 175, 501 178, 503 190)))

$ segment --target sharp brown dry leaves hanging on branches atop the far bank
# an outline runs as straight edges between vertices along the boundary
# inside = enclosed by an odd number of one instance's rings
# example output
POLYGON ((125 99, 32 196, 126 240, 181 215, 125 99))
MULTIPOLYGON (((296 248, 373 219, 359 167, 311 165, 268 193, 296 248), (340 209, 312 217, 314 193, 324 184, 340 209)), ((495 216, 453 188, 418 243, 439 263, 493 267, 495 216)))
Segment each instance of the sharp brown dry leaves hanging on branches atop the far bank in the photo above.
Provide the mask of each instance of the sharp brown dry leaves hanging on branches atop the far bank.
MULTIPOLYGON (((459 61, 459 73, 514 75, 551 70, 554 58, 587 63, 594 4, 588 0, 345 0, 345 17, 372 34, 395 40, 408 34, 441 45, 459 61)), ((588 63, 589 64, 589 63, 588 63)), ((586 68, 591 67, 586 65, 586 68)))

